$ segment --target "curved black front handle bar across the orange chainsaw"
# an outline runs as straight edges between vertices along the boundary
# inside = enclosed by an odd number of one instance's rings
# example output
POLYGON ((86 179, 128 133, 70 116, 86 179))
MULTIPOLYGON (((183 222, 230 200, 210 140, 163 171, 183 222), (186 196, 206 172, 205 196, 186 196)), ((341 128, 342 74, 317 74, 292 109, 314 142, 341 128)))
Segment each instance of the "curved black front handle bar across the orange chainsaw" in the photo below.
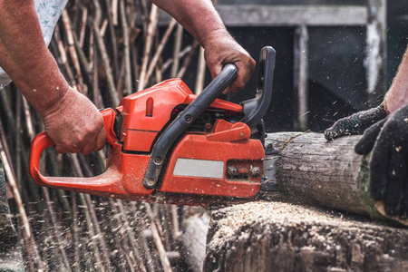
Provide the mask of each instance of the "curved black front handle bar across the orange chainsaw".
POLYGON ((187 108, 180 112, 179 116, 170 123, 159 139, 156 141, 152 151, 151 159, 143 179, 143 186, 146 189, 153 189, 160 178, 160 172, 164 165, 164 160, 170 147, 181 133, 191 125, 209 105, 214 102, 219 95, 237 77, 238 69, 234 64, 227 64, 219 75, 194 99, 187 108))

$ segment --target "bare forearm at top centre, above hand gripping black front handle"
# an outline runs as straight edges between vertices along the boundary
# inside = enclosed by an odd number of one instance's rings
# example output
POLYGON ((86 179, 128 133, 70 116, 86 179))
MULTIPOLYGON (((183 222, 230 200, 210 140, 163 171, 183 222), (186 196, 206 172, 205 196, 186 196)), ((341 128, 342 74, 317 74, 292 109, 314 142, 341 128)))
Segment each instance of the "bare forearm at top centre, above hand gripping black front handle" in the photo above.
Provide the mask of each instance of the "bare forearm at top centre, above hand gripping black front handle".
POLYGON ((151 0, 151 2, 175 18, 204 48, 211 35, 219 31, 227 33, 210 0, 151 0))

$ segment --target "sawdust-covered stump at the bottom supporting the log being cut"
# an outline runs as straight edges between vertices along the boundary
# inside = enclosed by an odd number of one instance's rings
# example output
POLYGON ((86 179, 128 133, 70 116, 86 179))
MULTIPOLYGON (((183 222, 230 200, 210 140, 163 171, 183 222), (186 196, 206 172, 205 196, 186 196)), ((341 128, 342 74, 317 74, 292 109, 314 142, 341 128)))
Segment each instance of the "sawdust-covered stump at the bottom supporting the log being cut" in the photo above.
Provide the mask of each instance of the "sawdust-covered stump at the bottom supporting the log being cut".
POLYGON ((282 202, 213 211, 204 271, 408 271, 408 233, 282 202))

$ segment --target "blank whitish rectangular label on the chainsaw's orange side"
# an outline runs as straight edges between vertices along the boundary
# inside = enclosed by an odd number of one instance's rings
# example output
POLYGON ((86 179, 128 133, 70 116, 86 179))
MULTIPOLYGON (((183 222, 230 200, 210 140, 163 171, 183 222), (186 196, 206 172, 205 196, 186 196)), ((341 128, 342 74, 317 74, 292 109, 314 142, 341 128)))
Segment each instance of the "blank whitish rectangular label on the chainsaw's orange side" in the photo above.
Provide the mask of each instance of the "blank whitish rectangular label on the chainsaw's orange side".
POLYGON ((179 158, 174 166, 173 175, 222 179, 224 178, 224 161, 179 158))

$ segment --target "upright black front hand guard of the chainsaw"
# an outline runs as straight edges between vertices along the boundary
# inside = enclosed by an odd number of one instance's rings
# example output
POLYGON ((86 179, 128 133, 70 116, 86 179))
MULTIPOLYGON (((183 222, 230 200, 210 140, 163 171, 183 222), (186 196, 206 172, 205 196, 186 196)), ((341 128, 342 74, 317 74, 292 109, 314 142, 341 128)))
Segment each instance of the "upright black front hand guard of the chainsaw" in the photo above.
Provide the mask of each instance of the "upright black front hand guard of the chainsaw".
POLYGON ((272 99, 276 55, 277 52, 271 46, 261 49, 257 73, 257 96, 240 103, 245 114, 241 121, 248 124, 252 132, 257 131, 257 125, 262 122, 262 117, 267 112, 272 99))

